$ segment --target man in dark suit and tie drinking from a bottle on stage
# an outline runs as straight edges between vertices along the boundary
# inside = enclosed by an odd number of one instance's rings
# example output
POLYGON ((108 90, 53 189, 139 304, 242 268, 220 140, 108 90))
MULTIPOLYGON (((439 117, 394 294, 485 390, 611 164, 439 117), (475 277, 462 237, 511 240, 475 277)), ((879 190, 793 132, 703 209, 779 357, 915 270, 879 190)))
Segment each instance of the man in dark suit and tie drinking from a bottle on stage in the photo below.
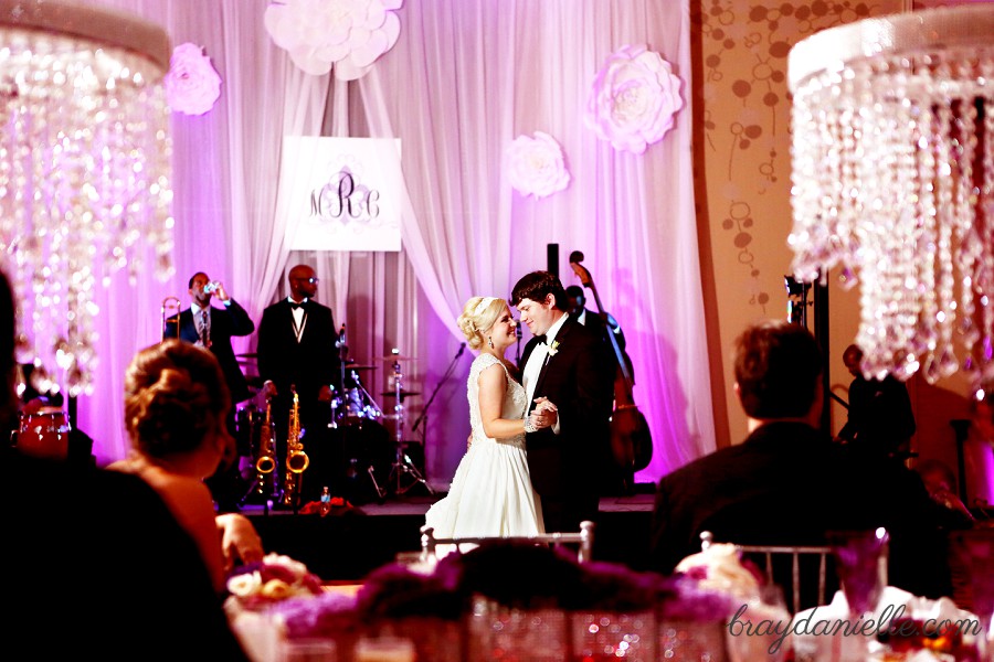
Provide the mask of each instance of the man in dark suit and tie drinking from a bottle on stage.
POLYGON ((212 281, 203 271, 193 274, 187 287, 193 301, 190 308, 179 313, 179 339, 209 349, 221 364, 224 383, 231 392, 232 407, 228 416, 228 431, 231 439, 237 441, 237 447, 224 453, 218 470, 205 482, 219 510, 236 511, 239 502, 248 490, 239 470, 239 458, 250 456, 252 450, 247 436, 237 431, 235 405, 252 394, 231 348, 231 339, 234 335, 248 335, 255 331, 255 322, 245 309, 229 296, 222 282, 212 281), (214 297, 221 302, 221 308, 211 306, 211 299, 214 297))

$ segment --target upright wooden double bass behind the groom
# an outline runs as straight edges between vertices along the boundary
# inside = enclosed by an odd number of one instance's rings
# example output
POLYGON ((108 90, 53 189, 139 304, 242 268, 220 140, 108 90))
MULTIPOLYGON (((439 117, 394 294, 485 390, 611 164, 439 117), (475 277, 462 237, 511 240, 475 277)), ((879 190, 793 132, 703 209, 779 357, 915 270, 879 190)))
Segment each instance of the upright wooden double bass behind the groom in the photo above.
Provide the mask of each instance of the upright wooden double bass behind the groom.
MULTIPOLYGON (((573 250, 570 254, 570 267, 580 278, 580 282, 593 292, 598 312, 606 318, 607 314, 601 305, 601 296, 598 293, 598 288, 590 271, 580 264, 582 261, 583 254, 581 252, 573 250)), ((638 410, 632 393, 635 381, 632 377, 631 360, 617 344, 617 338, 611 331, 610 325, 607 338, 611 341, 617 362, 614 377, 614 413, 611 416, 611 452, 614 461, 622 470, 624 489, 626 492, 631 492, 635 487, 635 472, 648 467, 649 461, 653 459, 653 437, 649 433, 648 423, 646 423, 642 412, 638 410)))

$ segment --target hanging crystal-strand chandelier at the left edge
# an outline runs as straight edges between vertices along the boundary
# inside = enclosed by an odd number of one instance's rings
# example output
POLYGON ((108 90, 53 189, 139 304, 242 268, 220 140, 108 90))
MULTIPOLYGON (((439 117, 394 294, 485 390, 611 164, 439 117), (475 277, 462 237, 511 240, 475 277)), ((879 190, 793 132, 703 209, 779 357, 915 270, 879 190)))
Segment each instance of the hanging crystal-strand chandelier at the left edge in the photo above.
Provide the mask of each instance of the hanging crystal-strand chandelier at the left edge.
POLYGON ((166 32, 105 8, 0 0, 0 260, 18 360, 91 393, 94 288, 172 271, 166 32), (62 378, 59 378, 61 373, 62 378))

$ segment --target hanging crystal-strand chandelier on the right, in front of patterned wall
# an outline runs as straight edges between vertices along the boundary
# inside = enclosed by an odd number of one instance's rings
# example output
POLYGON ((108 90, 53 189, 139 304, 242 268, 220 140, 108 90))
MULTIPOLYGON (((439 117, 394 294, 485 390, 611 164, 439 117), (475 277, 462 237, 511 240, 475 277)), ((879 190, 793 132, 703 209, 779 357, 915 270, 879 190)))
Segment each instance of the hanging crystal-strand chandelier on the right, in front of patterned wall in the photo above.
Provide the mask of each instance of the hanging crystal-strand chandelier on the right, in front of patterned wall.
POLYGON ((863 281, 867 376, 994 386, 994 4, 818 32, 789 78, 795 277, 863 281))

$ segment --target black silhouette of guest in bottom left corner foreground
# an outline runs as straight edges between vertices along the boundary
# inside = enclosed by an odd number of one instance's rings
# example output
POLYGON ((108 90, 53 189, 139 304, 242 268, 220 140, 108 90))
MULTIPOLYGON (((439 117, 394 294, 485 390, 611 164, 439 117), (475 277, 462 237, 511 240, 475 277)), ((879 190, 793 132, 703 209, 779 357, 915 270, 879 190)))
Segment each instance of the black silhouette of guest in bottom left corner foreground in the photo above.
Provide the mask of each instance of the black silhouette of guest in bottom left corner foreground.
MULTIPOLYGON (((13 311, 0 274, 4 424, 17 415, 13 311)), ((195 545, 145 481, 7 445, 0 470, 3 590, 17 601, 6 647, 50 660, 248 659, 195 545)))

